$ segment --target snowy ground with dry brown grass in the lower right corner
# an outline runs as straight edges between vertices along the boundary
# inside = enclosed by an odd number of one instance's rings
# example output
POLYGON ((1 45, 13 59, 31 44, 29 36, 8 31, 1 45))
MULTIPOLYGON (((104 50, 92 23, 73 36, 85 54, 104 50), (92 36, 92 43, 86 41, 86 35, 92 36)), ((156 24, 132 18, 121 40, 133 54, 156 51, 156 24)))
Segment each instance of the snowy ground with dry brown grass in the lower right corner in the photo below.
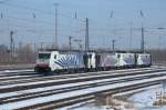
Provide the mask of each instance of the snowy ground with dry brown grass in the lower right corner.
POLYGON ((165 104, 154 106, 157 101, 156 92, 164 92, 162 84, 134 90, 127 93, 104 96, 100 98, 100 101, 97 98, 97 100, 91 100, 86 103, 59 110, 165 110, 165 104), (107 98, 110 99, 107 100, 107 98))

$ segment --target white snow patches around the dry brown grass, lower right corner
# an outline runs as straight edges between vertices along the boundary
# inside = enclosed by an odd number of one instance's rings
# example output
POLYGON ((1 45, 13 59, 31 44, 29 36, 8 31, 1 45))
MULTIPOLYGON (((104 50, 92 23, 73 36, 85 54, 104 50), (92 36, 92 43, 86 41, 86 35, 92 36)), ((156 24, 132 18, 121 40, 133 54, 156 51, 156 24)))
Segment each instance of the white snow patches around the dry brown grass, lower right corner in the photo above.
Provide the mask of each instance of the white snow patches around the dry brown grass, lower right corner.
MULTIPOLYGON (((153 106, 153 102, 156 99, 156 92, 159 92, 159 91, 164 91, 164 89, 162 88, 162 84, 156 84, 156 86, 141 88, 141 89, 136 89, 132 91, 116 93, 114 96, 121 97, 121 96, 132 94, 127 100, 131 101, 131 103, 136 110, 166 110, 166 107, 153 106)), ((102 107, 103 106, 96 106, 95 100, 90 100, 87 102, 80 102, 73 106, 60 108, 58 110, 91 110, 91 109, 92 110, 107 110, 102 107)), ((125 109, 125 110, 128 110, 128 109, 125 109)))

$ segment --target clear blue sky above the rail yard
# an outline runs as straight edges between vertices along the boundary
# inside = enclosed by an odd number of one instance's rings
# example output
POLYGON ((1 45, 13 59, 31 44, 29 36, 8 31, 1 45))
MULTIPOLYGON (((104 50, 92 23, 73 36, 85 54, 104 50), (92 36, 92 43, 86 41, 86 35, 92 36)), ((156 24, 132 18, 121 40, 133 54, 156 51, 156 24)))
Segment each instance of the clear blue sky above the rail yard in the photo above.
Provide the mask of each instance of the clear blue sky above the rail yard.
POLYGON ((15 31, 15 43, 52 42, 55 2, 60 47, 68 44, 69 36, 84 42, 84 20, 89 18, 92 48, 108 48, 115 39, 118 49, 138 49, 142 24, 146 48, 166 48, 166 29, 157 29, 166 28, 166 0, 7 0, 0 3, 0 43, 9 44, 10 30, 15 31))

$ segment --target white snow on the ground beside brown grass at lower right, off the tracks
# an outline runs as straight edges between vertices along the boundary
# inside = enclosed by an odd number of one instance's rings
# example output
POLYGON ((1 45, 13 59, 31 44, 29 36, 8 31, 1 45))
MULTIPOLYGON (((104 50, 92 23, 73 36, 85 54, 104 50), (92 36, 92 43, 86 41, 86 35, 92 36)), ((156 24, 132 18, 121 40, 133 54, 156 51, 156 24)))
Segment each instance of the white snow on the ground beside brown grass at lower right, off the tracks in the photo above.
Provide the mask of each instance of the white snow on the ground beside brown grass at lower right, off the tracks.
MULTIPOLYGON (((128 98, 128 101, 133 102, 135 110, 166 110, 166 107, 153 106, 153 102, 156 100, 156 92, 163 91, 162 84, 149 87, 137 93, 134 93, 128 98)), ((71 109, 62 108, 59 110, 112 110, 112 109, 106 109, 105 107, 97 107, 95 103, 86 103, 86 104, 84 103, 80 107, 77 106, 77 108, 76 107, 71 109)))

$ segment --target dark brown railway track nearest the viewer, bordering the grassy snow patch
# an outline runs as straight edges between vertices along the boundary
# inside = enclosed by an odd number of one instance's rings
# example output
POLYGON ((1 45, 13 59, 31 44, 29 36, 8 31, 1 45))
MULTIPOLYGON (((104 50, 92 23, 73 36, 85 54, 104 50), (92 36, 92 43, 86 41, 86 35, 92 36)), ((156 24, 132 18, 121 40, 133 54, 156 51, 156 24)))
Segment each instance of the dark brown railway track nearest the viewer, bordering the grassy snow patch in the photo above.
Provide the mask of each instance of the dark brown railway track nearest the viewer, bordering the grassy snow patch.
POLYGON ((121 92, 137 90, 141 88, 147 88, 147 87, 155 86, 158 83, 159 83, 159 81, 155 81, 155 82, 152 81, 148 83, 146 83, 146 82, 145 83, 138 83, 138 84, 122 87, 122 88, 117 88, 117 89, 110 89, 110 90, 105 90, 105 91, 90 93, 90 94, 85 94, 85 96, 72 97, 72 98, 62 99, 59 101, 56 100, 56 101, 46 102, 46 103, 42 103, 42 104, 39 103, 35 106, 31 106, 31 107, 24 107, 22 109, 24 109, 24 110, 27 110, 27 109, 38 109, 38 110, 52 110, 52 109, 54 109, 54 110, 56 110, 60 108, 65 108, 69 106, 81 103, 81 102, 87 102, 89 100, 94 100, 96 94, 112 96, 112 94, 116 94, 116 93, 121 93, 121 92))

